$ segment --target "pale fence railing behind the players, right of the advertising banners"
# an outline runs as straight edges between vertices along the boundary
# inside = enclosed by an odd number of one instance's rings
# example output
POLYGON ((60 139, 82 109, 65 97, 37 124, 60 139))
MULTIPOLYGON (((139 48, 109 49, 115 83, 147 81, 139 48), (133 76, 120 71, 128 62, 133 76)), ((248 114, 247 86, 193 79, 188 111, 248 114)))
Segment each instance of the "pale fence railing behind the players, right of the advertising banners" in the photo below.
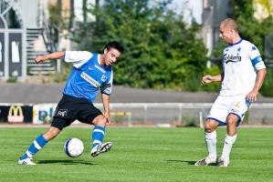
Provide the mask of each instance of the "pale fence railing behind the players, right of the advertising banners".
MULTIPOLYGON (((101 104, 96 104, 102 108, 101 104)), ((131 123, 203 126, 212 103, 112 103, 112 112, 131 113, 131 123)), ((127 117, 119 117, 124 122, 127 117)), ((256 103, 250 106, 245 122, 273 124, 273 103, 256 103)))

